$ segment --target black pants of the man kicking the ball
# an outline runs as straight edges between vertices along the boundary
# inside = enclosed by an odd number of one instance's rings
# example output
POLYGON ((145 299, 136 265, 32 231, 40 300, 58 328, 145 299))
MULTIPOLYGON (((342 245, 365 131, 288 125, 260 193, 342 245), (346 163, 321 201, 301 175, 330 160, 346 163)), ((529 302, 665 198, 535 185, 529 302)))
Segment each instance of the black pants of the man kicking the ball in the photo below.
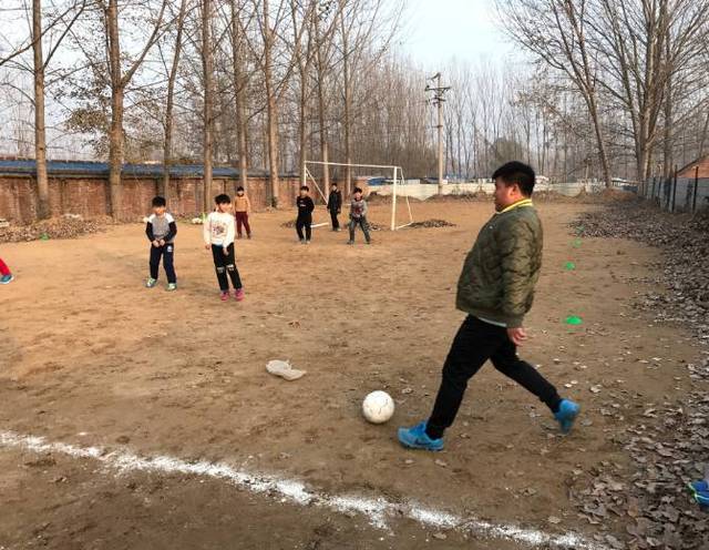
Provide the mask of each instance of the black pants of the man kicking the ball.
POLYGON ((427 427, 430 437, 442 437, 453 424, 467 380, 487 359, 503 375, 537 396, 552 411, 558 410, 562 399, 556 388, 532 365, 517 357, 517 348, 507 336, 506 328, 469 316, 458 330, 443 366, 441 387, 427 427))

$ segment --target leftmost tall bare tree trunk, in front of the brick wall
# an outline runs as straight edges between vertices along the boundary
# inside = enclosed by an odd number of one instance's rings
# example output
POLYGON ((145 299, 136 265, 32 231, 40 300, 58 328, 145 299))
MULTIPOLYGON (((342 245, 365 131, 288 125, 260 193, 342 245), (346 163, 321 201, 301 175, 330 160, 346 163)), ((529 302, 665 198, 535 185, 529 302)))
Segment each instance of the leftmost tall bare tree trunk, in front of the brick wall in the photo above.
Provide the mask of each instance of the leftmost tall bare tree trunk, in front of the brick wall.
POLYGON ((42 53, 42 2, 32 0, 32 50, 34 52, 34 159, 37 163, 38 216, 50 216, 44 128, 44 55, 42 53))

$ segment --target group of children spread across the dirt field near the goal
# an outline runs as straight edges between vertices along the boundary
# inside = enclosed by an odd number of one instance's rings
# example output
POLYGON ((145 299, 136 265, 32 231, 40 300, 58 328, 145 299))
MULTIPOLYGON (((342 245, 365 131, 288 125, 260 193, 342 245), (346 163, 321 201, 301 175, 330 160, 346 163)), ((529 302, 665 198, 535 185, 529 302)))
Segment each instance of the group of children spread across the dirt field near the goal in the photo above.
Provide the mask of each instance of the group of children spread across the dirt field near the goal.
MULTIPOLYGON (((296 220, 296 232, 298 238, 304 244, 310 244, 312 238, 312 211, 315 203, 309 195, 310 190, 307 185, 300 187, 300 193, 296 200, 298 208, 298 217, 296 220)), ((242 277, 236 266, 236 254, 234 251, 235 238, 243 237, 243 230, 246 230, 247 238, 251 238, 251 227, 248 217, 251 212, 251 203, 246 195, 244 187, 238 187, 236 198, 232 204, 229 195, 220 194, 214 200, 215 208, 204 221, 204 243, 205 248, 212 251, 214 259, 214 268, 219 284, 219 296, 223 302, 230 297, 229 281, 234 288, 234 298, 242 302, 245 297, 242 277), (234 211, 234 214, 232 214, 234 211)), ((177 235, 177 224, 175 218, 167 212, 167 202, 162 196, 153 198, 153 213, 147 218, 145 225, 145 235, 151 242, 150 254, 150 276, 145 282, 147 288, 157 285, 160 263, 163 262, 163 268, 167 276, 167 291, 177 289, 177 275, 175 274, 175 236, 177 235)), ((328 200, 328 211, 332 220, 332 231, 340 231, 338 215, 342 208, 342 195, 332 184, 332 191, 328 200)), ((371 243, 369 235, 369 223, 367 222, 367 201, 362 196, 362 190, 354 189, 352 200, 350 202, 350 238, 348 244, 354 244, 354 231, 357 227, 362 230, 367 244, 371 243)), ((0 271, 6 269, 4 264, 0 261, 0 271)), ((4 281, 4 272, 3 278, 4 281)), ((8 272, 9 273, 9 272, 8 272)), ((12 275, 8 275, 12 279, 12 275)))

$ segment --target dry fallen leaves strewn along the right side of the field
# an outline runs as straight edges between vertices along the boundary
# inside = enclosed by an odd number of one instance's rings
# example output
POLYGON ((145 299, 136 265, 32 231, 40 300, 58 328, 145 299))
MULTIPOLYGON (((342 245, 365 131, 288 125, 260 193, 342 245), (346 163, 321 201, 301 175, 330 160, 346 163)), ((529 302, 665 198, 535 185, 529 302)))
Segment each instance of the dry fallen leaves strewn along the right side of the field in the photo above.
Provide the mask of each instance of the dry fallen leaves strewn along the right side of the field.
MULTIPOLYGON (((679 322, 709 343, 709 216, 678 216, 645 203, 614 204, 573 224, 579 236, 630 238, 660 246, 657 276, 638 279, 657 291, 636 307, 657 322, 679 322)), ((709 511, 687 482, 709 468, 709 352, 688 364, 691 390, 681 403, 646 404, 643 421, 616 436, 633 459, 628 479, 615 464, 598 465, 577 495, 579 517, 602 531, 623 526, 626 540, 597 534, 612 548, 709 549, 709 511), (625 481, 625 482, 624 482, 625 481)))

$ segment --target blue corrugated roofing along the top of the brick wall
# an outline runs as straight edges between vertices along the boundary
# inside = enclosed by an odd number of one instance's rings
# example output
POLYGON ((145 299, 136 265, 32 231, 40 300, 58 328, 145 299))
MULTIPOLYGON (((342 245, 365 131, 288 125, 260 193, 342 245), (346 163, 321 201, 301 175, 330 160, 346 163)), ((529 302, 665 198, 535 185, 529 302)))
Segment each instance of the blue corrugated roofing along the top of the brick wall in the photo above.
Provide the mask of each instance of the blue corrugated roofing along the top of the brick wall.
MULTIPOLYGON (((0 174, 34 174, 37 171, 33 160, 0 160, 0 174)), ((47 171, 50 175, 99 175, 109 176, 109 163, 85 161, 48 161, 47 171)), ((202 164, 173 164, 169 173, 177 177, 202 177, 202 164)), ((238 177, 239 171, 233 167, 215 166, 212 171, 215 177, 238 177)), ((163 175, 162 164, 124 164, 123 175, 157 177, 163 175)), ((249 175, 266 176, 263 170, 249 170, 249 175)))

